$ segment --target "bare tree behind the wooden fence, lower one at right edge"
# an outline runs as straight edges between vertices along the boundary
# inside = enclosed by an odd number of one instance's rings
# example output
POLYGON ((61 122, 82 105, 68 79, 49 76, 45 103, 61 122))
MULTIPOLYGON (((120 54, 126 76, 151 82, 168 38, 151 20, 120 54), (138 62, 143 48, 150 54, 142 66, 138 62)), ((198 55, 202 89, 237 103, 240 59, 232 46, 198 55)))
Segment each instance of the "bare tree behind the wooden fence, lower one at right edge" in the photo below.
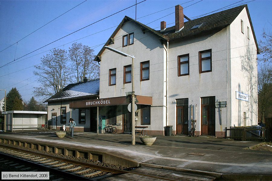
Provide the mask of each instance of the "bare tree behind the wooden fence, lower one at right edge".
POLYGON ((260 122, 272 113, 272 66, 262 64, 258 71, 258 110, 260 122))

